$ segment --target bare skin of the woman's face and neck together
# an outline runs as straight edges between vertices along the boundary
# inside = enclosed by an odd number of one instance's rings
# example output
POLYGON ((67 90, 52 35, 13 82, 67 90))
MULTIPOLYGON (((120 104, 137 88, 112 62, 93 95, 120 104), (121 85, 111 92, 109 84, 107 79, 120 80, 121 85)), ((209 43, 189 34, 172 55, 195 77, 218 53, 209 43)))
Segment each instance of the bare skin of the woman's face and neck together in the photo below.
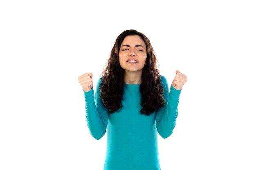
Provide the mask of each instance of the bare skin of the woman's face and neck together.
POLYGON ((124 83, 141 84, 146 58, 146 44, 139 35, 128 35, 124 38, 119 51, 119 63, 124 69, 124 83), (137 63, 130 63, 128 60, 136 60, 137 63))

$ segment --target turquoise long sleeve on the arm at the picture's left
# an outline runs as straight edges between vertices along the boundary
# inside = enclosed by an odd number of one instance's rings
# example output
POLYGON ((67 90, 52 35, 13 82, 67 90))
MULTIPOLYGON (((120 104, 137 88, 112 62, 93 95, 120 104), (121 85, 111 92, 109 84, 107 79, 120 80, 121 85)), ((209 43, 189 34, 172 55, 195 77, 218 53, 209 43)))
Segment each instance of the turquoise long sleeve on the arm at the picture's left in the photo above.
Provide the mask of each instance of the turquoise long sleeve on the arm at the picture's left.
POLYGON ((103 106, 100 98, 100 82, 101 79, 97 82, 95 98, 93 89, 88 92, 83 91, 85 97, 86 124, 92 137, 97 140, 105 135, 109 116, 108 110, 103 106))

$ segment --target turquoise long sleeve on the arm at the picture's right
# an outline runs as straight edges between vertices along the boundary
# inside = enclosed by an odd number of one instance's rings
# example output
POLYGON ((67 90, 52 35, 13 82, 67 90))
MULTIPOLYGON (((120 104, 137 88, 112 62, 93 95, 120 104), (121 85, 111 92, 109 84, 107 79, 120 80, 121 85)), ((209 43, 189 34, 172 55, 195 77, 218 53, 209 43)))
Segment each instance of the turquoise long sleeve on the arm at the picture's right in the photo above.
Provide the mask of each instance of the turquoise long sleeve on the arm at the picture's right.
POLYGON ((165 106, 156 112, 156 127, 159 135, 165 139, 171 136, 176 125, 181 90, 177 90, 171 85, 169 91, 168 82, 164 76, 162 76, 162 82, 166 101, 165 106))

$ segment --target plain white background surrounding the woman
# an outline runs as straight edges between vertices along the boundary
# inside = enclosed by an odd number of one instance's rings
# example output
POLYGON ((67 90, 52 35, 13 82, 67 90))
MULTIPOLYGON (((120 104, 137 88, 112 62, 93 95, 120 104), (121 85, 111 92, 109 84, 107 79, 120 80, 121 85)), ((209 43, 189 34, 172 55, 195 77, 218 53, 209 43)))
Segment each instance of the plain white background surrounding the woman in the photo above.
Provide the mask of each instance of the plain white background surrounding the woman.
MULTIPOLYGON (((102 170, 78 77, 96 84, 117 36, 151 41, 161 74, 187 75, 162 170, 255 170, 253 0, 0 2, 0 169, 102 170)), ((135 153, 136 154, 136 153, 135 153)), ((146 159, 146 158, 145 158, 146 159)))

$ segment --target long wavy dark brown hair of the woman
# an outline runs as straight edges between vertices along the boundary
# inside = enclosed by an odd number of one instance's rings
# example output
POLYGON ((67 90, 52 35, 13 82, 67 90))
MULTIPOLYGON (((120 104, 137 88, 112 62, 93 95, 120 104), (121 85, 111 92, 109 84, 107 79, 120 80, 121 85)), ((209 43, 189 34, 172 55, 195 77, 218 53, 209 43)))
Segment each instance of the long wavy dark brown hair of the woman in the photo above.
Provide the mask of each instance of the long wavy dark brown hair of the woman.
POLYGON ((108 109, 108 113, 119 112, 122 105, 124 92, 124 69, 119 63, 119 51, 121 43, 128 35, 139 35, 146 44, 146 64, 141 75, 141 102, 140 113, 150 115, 155 110, 164 106, 164 88, 161 84, 161 76, 157 67, 157 58, 149 39, 134 29, 122 32, 116 39, 110 53, 107 66, 101 73, 102 82, 99 86, 103 105, 108 109))

